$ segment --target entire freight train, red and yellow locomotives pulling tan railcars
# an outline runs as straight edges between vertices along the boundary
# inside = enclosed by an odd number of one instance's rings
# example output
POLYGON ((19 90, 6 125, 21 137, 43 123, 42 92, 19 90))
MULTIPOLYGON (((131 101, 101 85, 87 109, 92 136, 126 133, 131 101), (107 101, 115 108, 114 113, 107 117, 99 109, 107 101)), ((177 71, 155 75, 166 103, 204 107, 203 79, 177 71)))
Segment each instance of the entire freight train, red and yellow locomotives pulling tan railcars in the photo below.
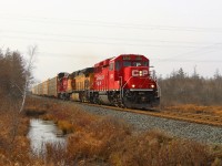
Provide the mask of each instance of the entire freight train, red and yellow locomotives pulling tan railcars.
POLYGON ((32 94, 62 100, 151 108, 160 103, 160 87, 144 55, 120 54, 73 73, 61 72, 32 89, 32 94))

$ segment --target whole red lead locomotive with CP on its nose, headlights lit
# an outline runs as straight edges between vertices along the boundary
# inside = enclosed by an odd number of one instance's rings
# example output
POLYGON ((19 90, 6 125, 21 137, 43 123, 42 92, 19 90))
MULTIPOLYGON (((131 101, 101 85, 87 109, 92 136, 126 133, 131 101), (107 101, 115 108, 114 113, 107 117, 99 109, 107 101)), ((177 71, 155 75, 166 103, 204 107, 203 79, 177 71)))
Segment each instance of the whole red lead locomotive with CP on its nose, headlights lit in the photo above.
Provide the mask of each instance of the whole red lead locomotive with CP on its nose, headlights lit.
POLYGON ((94 65, 95 101, 117 106, 148 108, 160 102, 157 81, 143 55, 122 54, 94 65))

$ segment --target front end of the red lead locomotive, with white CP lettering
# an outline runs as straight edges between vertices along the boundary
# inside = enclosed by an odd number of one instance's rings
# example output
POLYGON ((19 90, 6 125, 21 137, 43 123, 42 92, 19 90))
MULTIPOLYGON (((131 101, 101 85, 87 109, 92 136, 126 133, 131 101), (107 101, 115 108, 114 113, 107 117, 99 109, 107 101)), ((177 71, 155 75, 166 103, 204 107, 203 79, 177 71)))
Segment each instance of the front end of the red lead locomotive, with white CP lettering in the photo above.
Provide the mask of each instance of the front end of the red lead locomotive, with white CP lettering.
POLYGON ((150 76, 149 59, 143 55, 122 58, 120 94, 127 107, 149 108, 159 105, 157 81, 150 76))

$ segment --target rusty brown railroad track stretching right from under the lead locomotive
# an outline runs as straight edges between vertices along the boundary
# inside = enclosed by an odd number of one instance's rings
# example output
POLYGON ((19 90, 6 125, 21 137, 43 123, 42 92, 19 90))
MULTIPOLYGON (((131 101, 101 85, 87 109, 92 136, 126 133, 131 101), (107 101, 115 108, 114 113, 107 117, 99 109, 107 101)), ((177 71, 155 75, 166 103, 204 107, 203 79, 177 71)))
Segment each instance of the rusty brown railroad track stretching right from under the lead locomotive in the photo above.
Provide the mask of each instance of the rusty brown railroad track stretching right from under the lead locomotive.
POLYGON ((132 110, 132 108, 121 108, 121 107, 114 107, 114 106, 108 106, 108 105, 98 105, 98 104, 91 104, 91 103, 83 103, 83 104, 103 107, 103 108, 110 108, 113 111, 130 112, 130 113, 135 113, 135 114, 185 121, 185 122, 192 122, 192 123, 205 124, 205 125, 212 125, 212 126, 222 126, 222 116, 219 116, 219 115, 211 115, 211 114, 203 114, 203 113, 185 113, 185 112, 178 112, 178 111, 155 110, 155 108, 150 110, 150 111, 142 111, 142 110, 132 110))

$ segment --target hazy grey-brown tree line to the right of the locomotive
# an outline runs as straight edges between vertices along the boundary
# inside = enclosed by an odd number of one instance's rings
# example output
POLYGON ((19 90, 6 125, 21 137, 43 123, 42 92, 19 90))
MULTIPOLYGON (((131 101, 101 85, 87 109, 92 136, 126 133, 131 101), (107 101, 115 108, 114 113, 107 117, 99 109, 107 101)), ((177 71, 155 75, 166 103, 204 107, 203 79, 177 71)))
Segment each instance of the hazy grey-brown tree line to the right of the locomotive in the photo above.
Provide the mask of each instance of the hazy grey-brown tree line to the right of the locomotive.
POLYGON ((183 69, 173 71, 168 77, 159 77, 161 105, 200 104, 222 105, 222 75, 216 70, 213 77, 200 76, 194 70, 189 76, 183 69))

